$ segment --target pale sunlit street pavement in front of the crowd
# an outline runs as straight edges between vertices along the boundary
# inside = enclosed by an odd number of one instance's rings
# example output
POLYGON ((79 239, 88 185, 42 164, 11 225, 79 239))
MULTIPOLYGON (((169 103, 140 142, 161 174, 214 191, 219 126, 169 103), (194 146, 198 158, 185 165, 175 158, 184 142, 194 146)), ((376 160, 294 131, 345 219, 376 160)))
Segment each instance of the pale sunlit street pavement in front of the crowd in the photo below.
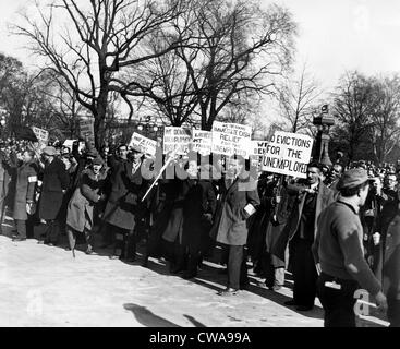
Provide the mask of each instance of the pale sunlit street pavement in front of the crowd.
MULTIPOLYGON (((16 327, 322 327, 318 301, 310 312, 283 303, 291 299, 292 282, 274 292, 259 286, 250 270, 251 286, 238 296, 221 298, 226 275, 206 261, 198 277, 184 280, 170 275, 165 262, 150 258, 148 268, 137 262, 110 258, 111 250, 96 249, 76 258, 61 246, 38 244, 35 238, 13 242, 13 224, 7 217, 0 236, 0 326, 16 327)), ((97 245, 100 244, 96 234, 97 245)), ((95 244, 96 246, 96 244, 95 244)), ((143 249, 138 249, 141 252, 143 249)), ((359 326, 387 326, 385 318, 367 316, 359 326)))

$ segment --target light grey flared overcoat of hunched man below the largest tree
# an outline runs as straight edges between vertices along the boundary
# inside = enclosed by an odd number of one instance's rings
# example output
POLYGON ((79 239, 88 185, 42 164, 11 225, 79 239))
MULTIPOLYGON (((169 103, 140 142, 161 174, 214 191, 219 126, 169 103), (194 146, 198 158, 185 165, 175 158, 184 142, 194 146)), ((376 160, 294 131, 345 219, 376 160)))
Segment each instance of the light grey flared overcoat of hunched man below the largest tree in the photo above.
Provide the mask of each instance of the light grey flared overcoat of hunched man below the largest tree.
POLYGON ((83 232, 93 228, 93 212, 99 202, 105 186, 107 172, 96 176, 92 169, 83 170, 80 185, 74 191, 68 205, 66 224, 76 231, 83 232))

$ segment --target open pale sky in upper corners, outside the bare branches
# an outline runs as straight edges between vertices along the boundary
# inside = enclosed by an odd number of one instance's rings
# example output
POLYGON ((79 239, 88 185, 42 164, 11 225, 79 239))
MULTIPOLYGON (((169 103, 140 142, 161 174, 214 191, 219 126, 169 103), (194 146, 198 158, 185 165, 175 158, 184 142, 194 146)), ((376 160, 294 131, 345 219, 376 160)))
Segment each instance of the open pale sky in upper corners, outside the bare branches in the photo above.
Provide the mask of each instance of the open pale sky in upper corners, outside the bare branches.
MULTIPOLYGON (((40 1, 40 0, 39 0, 40 1)), ((270 3, 270 0, 262 0, 270 3)), ((0 51, 26 65, 32 60, 8 35, 7 22, 31 0, 0 1, 0 51)), ((329 88, 346 70, 366 74, 400 72, 399 0, 276 0, 290 9, 299 23, 296 64, 329 88)))

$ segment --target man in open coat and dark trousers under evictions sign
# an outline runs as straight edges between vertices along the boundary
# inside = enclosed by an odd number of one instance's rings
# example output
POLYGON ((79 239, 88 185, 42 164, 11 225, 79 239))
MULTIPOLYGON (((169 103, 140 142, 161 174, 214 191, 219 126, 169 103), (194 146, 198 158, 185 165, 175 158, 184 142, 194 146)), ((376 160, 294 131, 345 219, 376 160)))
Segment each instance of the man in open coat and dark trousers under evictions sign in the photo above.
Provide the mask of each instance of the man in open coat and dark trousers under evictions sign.
POLYGON ((334 193, 320 179, 318 164, 310 164, 307 179, 300 185, 288 185, 288 194, 296 195, 293 209, 274 252, 284 261, 284 250, 289 242, 289 265, 293 273, 293 300, 287 305, 296 305, 299 311, 308 311, 314 306, 316 297, 317 270, 312 245, 317 231, 317 219, 322 210, 334 202, 334 193))

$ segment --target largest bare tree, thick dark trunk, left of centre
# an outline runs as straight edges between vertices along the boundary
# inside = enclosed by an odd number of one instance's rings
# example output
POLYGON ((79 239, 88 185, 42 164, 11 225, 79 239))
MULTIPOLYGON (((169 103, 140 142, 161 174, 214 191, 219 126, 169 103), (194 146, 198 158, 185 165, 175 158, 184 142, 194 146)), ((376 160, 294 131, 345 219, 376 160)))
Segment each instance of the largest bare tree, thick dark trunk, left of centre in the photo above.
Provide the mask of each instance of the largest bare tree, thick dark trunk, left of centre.
POLYGON ((25 23, 14 25, 13 32, 29 39, 33 52, 45 59, 45 68, 62 76, 76 100, 93 113, 98 145, 109 94, 121 92, 112 77, 126 67, 155 58, 141 50, 142 41, 182 11, 182 2, 56 0, 49 7, 37 5, 40 21, 25 15, 25 23), (66 24, 61 31, 58 21, 63 19, 66 24))

